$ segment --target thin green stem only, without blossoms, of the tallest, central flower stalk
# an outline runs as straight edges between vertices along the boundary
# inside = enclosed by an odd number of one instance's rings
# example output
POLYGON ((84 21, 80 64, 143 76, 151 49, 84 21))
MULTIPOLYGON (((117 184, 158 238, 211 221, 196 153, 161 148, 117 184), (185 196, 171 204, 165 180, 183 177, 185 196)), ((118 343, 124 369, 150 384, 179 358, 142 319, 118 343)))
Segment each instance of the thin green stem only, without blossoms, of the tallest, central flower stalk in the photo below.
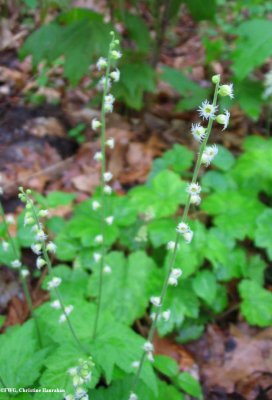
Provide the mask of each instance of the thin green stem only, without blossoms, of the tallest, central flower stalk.
POLYGON ((101 311, 101 304, 102 304, 102 293, 103 293, 103 269, 105 266, 105 255, 106 255, 106 248, 105 248, 105 218, 106 218, 106 201, 105 201, 105 179, 104 174, 106 172, 106 144, 105 144, 105 137, 106 137, 106 109, 105 109, 105 97, 108 92, 108 84, 109 84, 109 75, 110 75, 110 68, 111 68, 111 51, 112 51, 112 44, 114 41, 114 36, 109 46, 109 53, 107 58, 107 69, 105 74, 105 84, 102 96, 102 109, 101 109, 101 152, 102 152, 102 162, 101 162, 101 235, 103 237, 103 242, 101 245, 101 260, 99 264, 99 283, 98 283, 98 295, 97 295, 97 308, 94 318, 94 328, 93 328, 93 340, 96 338, 98 324, 99 324, 99 317, 101 311))

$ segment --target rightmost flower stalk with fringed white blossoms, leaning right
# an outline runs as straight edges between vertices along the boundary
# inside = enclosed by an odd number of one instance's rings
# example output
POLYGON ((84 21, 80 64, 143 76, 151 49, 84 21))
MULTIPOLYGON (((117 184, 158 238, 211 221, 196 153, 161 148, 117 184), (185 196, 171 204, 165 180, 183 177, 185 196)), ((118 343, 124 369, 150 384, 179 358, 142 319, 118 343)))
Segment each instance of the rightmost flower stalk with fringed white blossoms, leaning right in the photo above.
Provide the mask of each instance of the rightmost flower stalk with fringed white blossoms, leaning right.
POLYGON ((197 157, 197 162, 194 168, 193 172, 193 177, 191 183, 187 187, 187 200, 186 204, 184 207, 183 215, 181 222, 178 224, 177 229, 176 229, 176 238, 174 242, 169 242, 168 243, 168 249, 172 250, 172 256, 169 262, 169 267, 166 273, 166 277, 163 283, 162 291, 159 297, 152 296, 150 301, 151 303, 156 307, 156 312, 152 314, 152 324, 150 327, 150 331, 148 334, 148 338, 146 343, 144 344, 144 349, 143 353, 141 356, 140 361, 137 361, 137 371, 132 383, 132 389, 129 395, 129 400, 138 400, 138 396, 135 393, 135 389, 137 388, 137 383, 139 381, 141 371, 144 365, 144 362, 146 358, 148 358, 150 361, 153 361, 153 338, 154 338, 154 333, 157 327, 157 323, 161 317, 164 317, 165 320, 169 319, 170 317, 170 310, 161 312, 161 307, 163 305, 167 288, 169 285, 177 285, 177 279, 181 275, 182 271, 179 269, 174 268, 175 260, 176 260, 176 255, 177 255, 177 250, 179 247, 179 240, 180 236, 182 235, 186 243, 190 243, 193 238, 193 232, 190 230, 189 226, 187 225, 187 219, 188 219, 188 212, 190 209, 191 204, 199 204, 201 201, 200 198, 200 191, 201 187, 197 183, 197 178, 199 175, 199 170, 201 167, 201 164, 206 164, 209 165, 214 156, 217 154, 217 148, 216 146, 212 147, 206 147, 207 142, 209 140, 209 136, 211 133, 211 129, 213 126, 213 122, 216 119, 216 121, 220 124, 224 125, 224 129, 227 127, 228 122, 229 122, 229 112, 226 111, 225 114, 220 114, 217 117, 215 116, 215 113, 217 111, 217 97, 218 94, 221 96, 230 96, 231 98, 233 97, 233 90, 232 90, 232 85, 223 85, 220 86, 220 75, 215 75, 212 79, 213 83, 215 83, 215 91, 214 91, 214 96, 213 96, 213 102, 212 104, 209 104, 208 101, 205 101, 202 103, 202 106, 199 109, 200 115, 204 119, 208 119, 208 126, 207 128, 201 127, 199 124, 193 125, 192 127, 192 134, 198 140, 201 142, 200 145, 200 150, 198 153, 197 157))

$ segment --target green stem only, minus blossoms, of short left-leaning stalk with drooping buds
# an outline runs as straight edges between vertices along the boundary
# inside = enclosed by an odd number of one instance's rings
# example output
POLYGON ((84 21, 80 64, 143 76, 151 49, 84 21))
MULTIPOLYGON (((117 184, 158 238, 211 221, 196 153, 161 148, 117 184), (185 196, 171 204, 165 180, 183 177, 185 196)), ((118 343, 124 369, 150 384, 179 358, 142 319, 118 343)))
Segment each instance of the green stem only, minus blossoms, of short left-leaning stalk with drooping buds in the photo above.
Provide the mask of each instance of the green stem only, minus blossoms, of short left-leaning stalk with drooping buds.
MULTIPOLYGON (((34 215, 34 218, 35 218, 35 222, 36 222, 37 226, 40 226, 40 221, 39 221, 38 215, 36 213, 35 206, 33 205, 33 203, 31 203, 31 204, 32 204, 32 212, 33 212, 33 215, 34 215)), ((50 275, 50 277, 54 277, 53 267, 52 267, 52 263, 51 263, 50 257, 48 256, 48 252, 46 250, 45 241, 42 241, 42 253, 43 253, 44 260, 46 261, 46 264, 47 264, 47 267, 48 267, 49 275, 50 275)), ((80 340, 78 339, 78 336, 77 336, 77 334, 76 334, 76 332, 74 330, 74 327, 73 327, 73 325, 71 323, 71 320, 70 320, 69 316, 67 315, 67 313, 65 311, 65 306, 64 306, 64 302, 63 302, 62 296, 60 294, 60 291, 57 288, 54 288, 54 292, 56 294, 57 299, 59 300, 59 303, 60 303, 60 306, 61 306, 61 310, 62 310, 63 314, 66 316, 66 321, 67 321, 68 327, 70 329, 70 332, 71 332, 73 338, 75 339, 75 342, 76 342, 77 346, 79 347, 79 349, 81 351, 84 352, 84 354, 86 354, 87 351, 82 346, 80 340)))

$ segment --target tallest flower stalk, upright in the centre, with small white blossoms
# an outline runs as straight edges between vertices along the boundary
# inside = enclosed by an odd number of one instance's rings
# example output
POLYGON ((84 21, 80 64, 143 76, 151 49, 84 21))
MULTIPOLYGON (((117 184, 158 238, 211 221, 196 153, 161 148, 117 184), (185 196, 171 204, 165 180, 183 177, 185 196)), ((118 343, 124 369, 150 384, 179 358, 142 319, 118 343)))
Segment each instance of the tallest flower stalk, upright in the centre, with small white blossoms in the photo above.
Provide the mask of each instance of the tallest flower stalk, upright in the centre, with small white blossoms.
POLYGON ((101 128, 101 152, 95 154, 94 159, 96 161, 101 162, 101 203, 94 201, 93 202, 93 210, 97 210, 101 208, 101 234, 96 236, 95 241, 101 244, 101 253, 95 253, 94 258, 95 261, 99 262, 99 283, 98 283, 98 296, 97 296, 97 309, 94 319, 94 328, 93 328, 93 339, 95 339, 99 317, 101 311, 101 303, 102 303, 102 291, 103 291, 103 275, 104 272, 107 273, 107 270, 110 268, 105 266, 105 256, 106 256, 106 246, 105 246, 105 230, 106 225, 111 225, 113 222, 112 216, 106 216, 106 195, 110 195, 112 192, 111 187, 107 184, 112 179, 111 172, 106 171, 106 146, 110 149, 114 147, 114 140, 108 139, 106 140, 106 114, 108 112, 112 112, 113 110, 113 102, 114 97, 108 93, 111 87, 111 78, 113 81, 117 82, 120 77, 120 72, 118 69, 111 72, 111 66, 114 60, 118 60, 121 57, 121 53, 117 51, 115 48, 119 44, 118 40, 115 40, 114 33, 111 32, 112 39, 109 46, 109 52, 107 59, 100 58, 97 62, 97 68, 99 70, 106 68, 105 76, 103 76, 100 80, 99 87, 103 88, 103 96, 102 96, 102 108, 101 108, 101 121, 93 120, 92 128, 94 130, 101 128))

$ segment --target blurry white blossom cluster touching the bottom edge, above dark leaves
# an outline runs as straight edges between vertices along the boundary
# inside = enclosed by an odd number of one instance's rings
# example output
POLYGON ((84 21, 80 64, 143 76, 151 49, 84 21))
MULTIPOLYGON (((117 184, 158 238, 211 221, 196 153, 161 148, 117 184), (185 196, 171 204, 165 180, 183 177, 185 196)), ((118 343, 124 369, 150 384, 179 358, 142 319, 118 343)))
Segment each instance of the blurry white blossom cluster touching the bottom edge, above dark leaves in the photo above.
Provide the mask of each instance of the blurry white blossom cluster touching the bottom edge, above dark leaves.
POLYGON ((89 357, 88 360, 80 359, 78 363, 78 366, 72 367, 68 370, 68 374, 72 378, 75 393, 67 394, 65 400, 89 400, 87 390, 84 386, 92 379, 94 363, 91 357, 89 357))

